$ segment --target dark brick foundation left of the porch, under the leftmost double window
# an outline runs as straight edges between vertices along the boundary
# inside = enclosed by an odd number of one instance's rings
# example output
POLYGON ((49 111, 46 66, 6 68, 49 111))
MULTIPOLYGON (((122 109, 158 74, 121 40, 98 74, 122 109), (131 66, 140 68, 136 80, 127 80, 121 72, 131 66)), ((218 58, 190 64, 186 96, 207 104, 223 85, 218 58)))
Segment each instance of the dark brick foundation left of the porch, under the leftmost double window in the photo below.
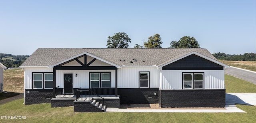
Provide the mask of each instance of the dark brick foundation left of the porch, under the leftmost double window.
POLYGON ((52 89, 26 89, 25 105, 51 103, 52 89))

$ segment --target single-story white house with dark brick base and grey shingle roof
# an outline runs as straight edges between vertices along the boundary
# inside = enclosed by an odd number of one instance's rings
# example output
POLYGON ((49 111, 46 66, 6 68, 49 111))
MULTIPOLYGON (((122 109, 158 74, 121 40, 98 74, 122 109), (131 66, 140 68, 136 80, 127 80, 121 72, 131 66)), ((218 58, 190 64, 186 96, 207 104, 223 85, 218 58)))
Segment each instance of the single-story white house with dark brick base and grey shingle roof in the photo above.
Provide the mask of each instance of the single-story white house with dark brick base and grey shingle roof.
POLYGON ((20 67, 25 105, 225 106, 228 66, 203 48, 39 48, 20 67))

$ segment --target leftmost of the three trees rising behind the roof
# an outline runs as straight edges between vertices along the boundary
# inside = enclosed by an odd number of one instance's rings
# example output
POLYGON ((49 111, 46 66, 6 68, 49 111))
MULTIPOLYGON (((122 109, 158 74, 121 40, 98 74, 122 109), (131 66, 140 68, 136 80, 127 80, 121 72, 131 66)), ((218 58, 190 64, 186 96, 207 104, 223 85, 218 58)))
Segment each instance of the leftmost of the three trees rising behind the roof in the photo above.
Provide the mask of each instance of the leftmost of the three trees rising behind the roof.
POLYGON ((118 32, 114 36, 108 36, 107 45, 108 48, 128 48, 128 43, 131 43, 131 39, 124 32, 118 32))

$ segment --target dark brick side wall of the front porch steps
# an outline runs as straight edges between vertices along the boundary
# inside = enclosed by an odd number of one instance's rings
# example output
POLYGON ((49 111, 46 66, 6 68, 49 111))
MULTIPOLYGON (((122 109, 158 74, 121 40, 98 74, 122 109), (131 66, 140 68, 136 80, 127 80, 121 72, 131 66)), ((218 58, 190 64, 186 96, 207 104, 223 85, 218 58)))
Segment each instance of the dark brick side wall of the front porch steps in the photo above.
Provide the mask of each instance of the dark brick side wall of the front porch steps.
POLYGON ((103 112, 97 106, 90 104, 89 101, 74 101, 75 112, 103 112))

